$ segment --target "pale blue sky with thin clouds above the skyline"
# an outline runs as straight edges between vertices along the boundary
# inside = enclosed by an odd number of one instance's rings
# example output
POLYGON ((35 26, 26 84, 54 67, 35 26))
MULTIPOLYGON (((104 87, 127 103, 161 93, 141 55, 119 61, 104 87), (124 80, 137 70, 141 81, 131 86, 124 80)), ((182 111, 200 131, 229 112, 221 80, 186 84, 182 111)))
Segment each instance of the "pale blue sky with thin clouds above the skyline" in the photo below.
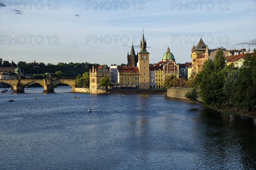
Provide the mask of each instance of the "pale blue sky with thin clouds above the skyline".
POLYGON ((150 63, 168 46, 177 63, 191 62, 200 37, 210 49, 256 48, 255 0, 0 2, 0 58, 15 63, 127 63, 143 29, 150 63))

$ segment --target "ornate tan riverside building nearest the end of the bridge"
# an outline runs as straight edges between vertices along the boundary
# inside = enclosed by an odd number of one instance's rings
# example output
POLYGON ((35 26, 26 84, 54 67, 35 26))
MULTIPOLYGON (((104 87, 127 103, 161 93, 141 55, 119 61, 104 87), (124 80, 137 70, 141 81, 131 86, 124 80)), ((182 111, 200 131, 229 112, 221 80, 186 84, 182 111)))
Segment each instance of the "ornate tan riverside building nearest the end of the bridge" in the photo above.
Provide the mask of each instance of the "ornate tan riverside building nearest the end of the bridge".
POLYGON ((99 93, 99 83, 102 78, 110 78, 110 72, 107 65, 93 66, 90 69, 90 92, 99 93))

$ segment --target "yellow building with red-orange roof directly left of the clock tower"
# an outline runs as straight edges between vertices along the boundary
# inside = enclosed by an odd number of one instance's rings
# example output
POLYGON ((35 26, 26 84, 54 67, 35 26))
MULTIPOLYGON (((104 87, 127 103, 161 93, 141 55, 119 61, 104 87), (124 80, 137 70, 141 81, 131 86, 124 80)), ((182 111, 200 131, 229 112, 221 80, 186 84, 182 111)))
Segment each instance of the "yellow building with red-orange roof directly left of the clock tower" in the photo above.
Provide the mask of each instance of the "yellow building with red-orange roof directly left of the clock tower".
POLYGON ((140 72, 138 67, 118 66, 118 83, 120 86, 132 86, 139 88, 140 72))

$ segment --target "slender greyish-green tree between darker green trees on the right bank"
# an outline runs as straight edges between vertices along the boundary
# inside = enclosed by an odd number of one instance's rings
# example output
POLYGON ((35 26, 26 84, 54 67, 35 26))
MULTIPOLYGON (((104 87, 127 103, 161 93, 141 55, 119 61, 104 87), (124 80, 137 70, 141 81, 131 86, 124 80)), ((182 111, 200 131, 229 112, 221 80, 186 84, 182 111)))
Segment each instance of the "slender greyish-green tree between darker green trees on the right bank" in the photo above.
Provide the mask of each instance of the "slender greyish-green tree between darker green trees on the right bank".
MULTIPOLYGON (((226 100, 228 102, 228 107, 230 108, 230 100, 232 100, 235 94, 235 87, 237 85, 237 77, 239 74, 239 70, 228 72, 227 77, 225 78, 223 93, 226 96, 226 100)), ((232 102, 232 101, 231 101, 232 102)))

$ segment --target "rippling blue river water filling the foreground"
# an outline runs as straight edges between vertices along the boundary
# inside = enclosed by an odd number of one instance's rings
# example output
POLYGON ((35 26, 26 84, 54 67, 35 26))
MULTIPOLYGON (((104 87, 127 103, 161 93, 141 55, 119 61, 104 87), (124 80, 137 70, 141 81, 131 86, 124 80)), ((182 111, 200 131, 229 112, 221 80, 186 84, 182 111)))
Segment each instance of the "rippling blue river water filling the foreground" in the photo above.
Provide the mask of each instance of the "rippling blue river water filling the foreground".
POLYGON ((252 119, 164 95, 42 91, 0 94, 1 170, 256 169, 252 119))

